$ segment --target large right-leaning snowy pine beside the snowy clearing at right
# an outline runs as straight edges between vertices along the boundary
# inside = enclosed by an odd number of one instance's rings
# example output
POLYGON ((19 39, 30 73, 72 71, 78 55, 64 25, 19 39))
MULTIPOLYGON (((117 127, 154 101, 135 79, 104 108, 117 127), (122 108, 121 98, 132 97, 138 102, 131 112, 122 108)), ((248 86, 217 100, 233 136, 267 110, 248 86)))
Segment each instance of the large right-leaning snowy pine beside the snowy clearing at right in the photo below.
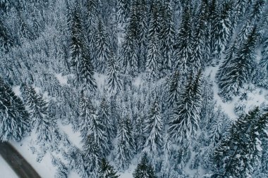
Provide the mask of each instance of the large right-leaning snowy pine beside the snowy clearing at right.
POLYGON ((257 42, 257 29, 254 27, 248 38, 238 49, 237 55, 229 65, 222 70, 226 70, 226 75, 219 79, 219 96, 224 101, 230 100, 233 94, 238 91, 246 82, 251 80, 252 66, 255 63, 255 45, 257 42))

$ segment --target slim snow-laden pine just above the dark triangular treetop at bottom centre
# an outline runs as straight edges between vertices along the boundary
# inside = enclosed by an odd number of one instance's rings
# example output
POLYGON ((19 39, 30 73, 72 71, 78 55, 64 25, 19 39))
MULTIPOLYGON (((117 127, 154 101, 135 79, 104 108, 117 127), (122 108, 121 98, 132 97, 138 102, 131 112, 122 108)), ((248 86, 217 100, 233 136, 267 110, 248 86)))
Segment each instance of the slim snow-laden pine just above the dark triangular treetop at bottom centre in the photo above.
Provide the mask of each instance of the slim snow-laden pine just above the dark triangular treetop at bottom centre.
POLYGON ((153 154, 157 154, 157 151, 162 148, 163 136, 162 132, 164 129, 161 110, 155 98, 154 103, 152 103, 149 115, 145 121, 145 133, 147 134, 147 140, 145 142, 145 147, 149 146, 150 151, 153 154))

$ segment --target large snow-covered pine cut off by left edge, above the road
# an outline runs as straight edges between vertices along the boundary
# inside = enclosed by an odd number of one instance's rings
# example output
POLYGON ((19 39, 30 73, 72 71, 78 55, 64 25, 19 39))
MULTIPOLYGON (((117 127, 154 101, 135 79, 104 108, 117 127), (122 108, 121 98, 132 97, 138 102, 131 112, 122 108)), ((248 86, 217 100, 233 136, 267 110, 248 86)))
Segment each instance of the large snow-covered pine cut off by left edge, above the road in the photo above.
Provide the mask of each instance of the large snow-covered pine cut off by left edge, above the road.
POLYGON ((23 101, 0 77, 0 141, 20 141, 28 132, 30 120, 23 101))

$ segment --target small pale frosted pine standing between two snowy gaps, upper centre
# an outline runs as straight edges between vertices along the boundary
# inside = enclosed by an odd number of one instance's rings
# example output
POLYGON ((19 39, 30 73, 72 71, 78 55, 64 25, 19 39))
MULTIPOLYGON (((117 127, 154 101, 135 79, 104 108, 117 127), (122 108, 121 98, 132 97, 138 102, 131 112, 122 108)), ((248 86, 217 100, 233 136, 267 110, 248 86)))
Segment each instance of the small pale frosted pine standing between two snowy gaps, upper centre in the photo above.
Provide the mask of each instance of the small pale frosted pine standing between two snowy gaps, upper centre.
POLYGON ((114 53, 107 63, 107 87, 111 94, 117 94, 122 89, 121 71, 114 53))

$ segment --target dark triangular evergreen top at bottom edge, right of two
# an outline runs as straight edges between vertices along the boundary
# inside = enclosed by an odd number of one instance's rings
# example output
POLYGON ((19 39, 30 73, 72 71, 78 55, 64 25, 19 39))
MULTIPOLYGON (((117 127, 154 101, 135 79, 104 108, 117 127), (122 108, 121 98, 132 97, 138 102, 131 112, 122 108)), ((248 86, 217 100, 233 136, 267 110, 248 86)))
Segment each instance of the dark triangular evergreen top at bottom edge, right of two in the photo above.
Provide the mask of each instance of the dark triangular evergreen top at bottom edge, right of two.
POLYGON ((137 165, 135 171, 133 172, 134 178, 156 178, 157 175, 154 172, 154 167, 149 163, 147 158, 147 153, 142 155, 140 163, 137 165))

